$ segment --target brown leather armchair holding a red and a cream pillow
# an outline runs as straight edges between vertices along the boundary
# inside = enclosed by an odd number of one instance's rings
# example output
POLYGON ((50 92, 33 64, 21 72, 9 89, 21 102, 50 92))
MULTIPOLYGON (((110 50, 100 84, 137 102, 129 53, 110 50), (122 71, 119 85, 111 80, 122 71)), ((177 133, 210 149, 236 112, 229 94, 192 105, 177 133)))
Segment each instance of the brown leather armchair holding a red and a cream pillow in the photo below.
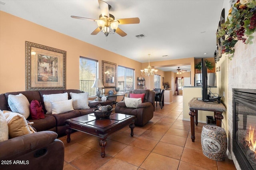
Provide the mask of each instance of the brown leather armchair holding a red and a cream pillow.
POLYGON ((148 123, 154 115, 155 93, 148 89, 134 89, 128 92, 128 97, 130 97, 130 93, 145 93, 144 103, 138 105, 137 108, 128 108, 124 101, 120 101, 116 103, 115 113, 134 115, 136 117, 135 125, 143 126, 148 123))

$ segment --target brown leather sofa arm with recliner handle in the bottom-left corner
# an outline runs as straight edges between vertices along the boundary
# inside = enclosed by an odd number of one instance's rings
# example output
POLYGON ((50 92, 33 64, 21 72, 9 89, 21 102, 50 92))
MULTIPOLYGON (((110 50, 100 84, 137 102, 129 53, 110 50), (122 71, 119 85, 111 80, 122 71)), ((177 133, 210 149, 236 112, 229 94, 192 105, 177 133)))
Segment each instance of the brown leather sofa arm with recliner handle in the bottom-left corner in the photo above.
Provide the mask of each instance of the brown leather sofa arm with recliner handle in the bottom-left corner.
POLYGON ((64 144, 57 133, 42 131, 0 142, 1 170, 62 170, 64 144))

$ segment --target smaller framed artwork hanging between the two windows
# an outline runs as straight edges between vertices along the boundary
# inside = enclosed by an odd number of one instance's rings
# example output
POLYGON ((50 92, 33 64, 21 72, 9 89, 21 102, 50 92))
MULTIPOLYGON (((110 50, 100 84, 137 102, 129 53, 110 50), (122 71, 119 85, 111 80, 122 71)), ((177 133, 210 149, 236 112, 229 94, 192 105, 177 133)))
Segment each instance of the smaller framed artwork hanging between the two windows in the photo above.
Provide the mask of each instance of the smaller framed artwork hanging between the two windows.
POLYGON ((116 63, 102 60, 102 83, 105 88, 116 87, 116 63))

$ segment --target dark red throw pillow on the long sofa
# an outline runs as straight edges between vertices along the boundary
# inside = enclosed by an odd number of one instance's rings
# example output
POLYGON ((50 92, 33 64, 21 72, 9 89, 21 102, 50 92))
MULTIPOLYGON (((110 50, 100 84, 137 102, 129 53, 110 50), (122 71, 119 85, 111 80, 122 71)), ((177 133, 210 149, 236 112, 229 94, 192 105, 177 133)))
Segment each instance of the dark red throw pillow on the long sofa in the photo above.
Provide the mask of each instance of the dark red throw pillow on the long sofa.
POLYGON ((44 119, 44 111, 41 102, 32 100, 30 103, 30 114, 33 120, 44 119))

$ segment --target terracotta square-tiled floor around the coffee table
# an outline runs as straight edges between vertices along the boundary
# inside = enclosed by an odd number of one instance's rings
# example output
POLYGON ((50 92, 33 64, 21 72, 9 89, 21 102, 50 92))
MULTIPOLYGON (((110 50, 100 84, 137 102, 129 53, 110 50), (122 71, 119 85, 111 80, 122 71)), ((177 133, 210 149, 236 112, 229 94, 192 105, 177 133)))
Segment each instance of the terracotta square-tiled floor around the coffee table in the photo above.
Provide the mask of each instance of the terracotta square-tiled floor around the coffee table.
POLYGON ((215 161, 202 153, 201 131, 196 127, 191 141, 190 122, 182 121, 182 96, 163 109, 156 107, 154 117, 143 127, 127 126, 107 138, 106 156, 101 158, 99 138, 82 133, 59 139, 65 145, 64 170, 235 170, 232 160, 215 161))

